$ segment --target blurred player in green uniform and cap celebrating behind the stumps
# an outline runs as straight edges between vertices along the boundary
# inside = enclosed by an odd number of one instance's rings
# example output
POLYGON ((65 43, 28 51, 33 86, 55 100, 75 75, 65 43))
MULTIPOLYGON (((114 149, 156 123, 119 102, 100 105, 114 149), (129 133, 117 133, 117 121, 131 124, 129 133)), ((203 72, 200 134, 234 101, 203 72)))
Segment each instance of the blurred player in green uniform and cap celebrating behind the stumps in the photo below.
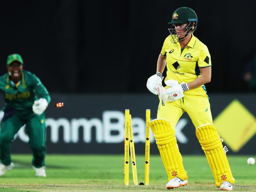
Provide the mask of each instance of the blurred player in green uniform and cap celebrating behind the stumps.
POLYGON ((46 177, 44 111, 50 102, 49 93, 37 76, 23 70, 23 60, 19 54, 7 57, 7 70, 8 73, 0 77, 0 90, 5 100, 0 130, 0 176, 14 167, 11 162, 11 141, 20 127, 26 124, 35 176, 46 177))

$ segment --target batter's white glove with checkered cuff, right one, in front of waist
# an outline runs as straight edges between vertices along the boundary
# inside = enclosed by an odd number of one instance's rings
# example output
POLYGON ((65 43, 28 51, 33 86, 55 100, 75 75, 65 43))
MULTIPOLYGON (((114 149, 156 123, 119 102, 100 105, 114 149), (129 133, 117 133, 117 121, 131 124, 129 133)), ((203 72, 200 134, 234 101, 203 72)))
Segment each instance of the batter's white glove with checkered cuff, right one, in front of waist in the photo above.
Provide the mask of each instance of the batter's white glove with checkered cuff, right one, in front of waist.
MULTIPOLYGON (((165 82, 166 83, 166 82, 165 82)), ((166 84, 167 85, 167 84, 166 84)), ((173 87, 166 89, 166 94, 168 94, 167 102, 173 102, 184 97, 183 92, 189 90, 187 83, 180 83, 174 85, 173 87)))

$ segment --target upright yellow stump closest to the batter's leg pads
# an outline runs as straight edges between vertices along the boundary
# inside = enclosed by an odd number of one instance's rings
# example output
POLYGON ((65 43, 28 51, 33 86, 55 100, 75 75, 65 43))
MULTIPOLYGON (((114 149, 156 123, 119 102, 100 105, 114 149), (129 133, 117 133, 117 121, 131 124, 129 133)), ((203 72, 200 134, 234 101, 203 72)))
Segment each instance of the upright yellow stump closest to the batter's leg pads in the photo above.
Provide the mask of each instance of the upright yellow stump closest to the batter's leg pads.
POLYGON ((150 109, 146 110, 146 140, 145 140, 145 185, 149 185, 149 162, 150 162, 150 109))

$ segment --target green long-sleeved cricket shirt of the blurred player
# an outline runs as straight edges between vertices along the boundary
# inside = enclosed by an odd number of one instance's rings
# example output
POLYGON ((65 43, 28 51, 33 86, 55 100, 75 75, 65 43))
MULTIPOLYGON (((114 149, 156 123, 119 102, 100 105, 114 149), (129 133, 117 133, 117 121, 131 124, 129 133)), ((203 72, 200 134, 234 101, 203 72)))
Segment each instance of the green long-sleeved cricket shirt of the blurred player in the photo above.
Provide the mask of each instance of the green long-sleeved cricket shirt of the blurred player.
POLYGON ((48 103, 50 102, 50 95, 40 79, 25 70, 22 71, 22 78, 17 85, 11 81, 8 73, 1 76, 0 90, 4 93, 6 102, 4 109, 11 107, 19 112, 26 111, 31 114, 32 105, 35 100, 38 100, 38 97, 45 98, 48 103))

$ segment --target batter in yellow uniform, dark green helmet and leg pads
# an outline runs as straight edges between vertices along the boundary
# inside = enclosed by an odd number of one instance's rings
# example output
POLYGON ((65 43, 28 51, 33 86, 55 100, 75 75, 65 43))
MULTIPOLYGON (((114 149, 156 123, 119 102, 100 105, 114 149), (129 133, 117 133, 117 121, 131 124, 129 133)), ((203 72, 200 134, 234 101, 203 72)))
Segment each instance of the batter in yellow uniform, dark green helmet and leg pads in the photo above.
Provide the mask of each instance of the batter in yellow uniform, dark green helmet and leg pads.
POLYGON ((220 190, 232 190, 232 176, 226 153, 213 125, 210 103, 204 84, 211 81, 211 56, 208 48, 193 35, 197 15, 188 7, 176 9, 172 15, 169 35, 158 57, 156 74, 148 78, 150 92, 159 94, 157 119, 150 122, 169 182, 166 188, 187 185, 187 172, 177 146, 175 126, 186 111, 195 126, 195 135, 211 167, 215 185, 220 190), (162 73, 167 76, 161 94, 162 73), (161 102, 162 101, 162 102, 161 102), (166 102, 166 103, 165 103, 166 102))

